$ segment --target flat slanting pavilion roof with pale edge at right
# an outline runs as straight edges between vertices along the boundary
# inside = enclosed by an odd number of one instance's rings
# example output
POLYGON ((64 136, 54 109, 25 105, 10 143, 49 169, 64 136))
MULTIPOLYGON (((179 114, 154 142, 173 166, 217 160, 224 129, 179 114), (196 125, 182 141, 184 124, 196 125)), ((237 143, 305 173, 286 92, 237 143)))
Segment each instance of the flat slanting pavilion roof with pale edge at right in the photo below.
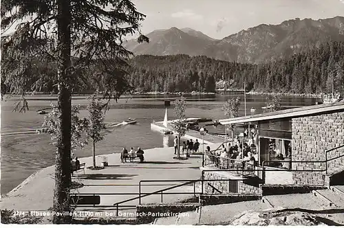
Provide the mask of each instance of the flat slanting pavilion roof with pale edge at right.
POLYGON ((247 122, 257 122, 260 120, 281 119, 286 117, 301 117, 306 115, 321 114, 331 111, 344 111, 344 101, 332 104, 318 104, 312 106, 303 106, 296 109, 285 109, 271 113, 261 113, 256 115, 247 115, 231 119, 219 119, 221 124, 239 124, 247 122))

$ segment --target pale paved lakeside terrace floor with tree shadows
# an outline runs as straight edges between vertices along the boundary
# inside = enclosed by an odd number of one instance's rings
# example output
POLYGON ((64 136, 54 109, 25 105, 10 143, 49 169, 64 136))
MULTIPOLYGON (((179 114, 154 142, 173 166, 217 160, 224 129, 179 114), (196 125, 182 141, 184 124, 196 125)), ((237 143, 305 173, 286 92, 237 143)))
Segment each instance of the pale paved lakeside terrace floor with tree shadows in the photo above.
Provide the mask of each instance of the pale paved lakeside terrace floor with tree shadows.
MULTIPOLYGON (((118 193, 131 192, 136 195, 100 196, 100 205, 113 205, 119 201, 138 196, 138 183, 140 180, 162 179, 200 179, 202 155, 191 155, 188 160, 176 160, 174 148, 153 148, 144 150, 145 163, 121 163, 120 154, 102 155, 97 157, 97 165, 107 157, 109 166, 103 170, 85 169, 79 171, 79 175, 73 181, 83 183, 74 192, 79 193, 118 193)), ((86 167, 92 166, 92 157, 81 158, 80 163, 86 163, 86 167)), ((179 182, 180 183, 180 182, 179 182)), ((161 190, 178 183, 151 183, 145 185, 142 192, 161 190)), ((44 168, 32 174, 16 189, 1 198, 1 209, 14 209, 18 211, 40 210, 45 211, 52 207, 52 195, 54 190, 54 166, 44 168)), ((193 192, 193 185, 184 186, 170 192, 193 192)), ((172 203, 189 198, 187 195, 164 195, 164 203, 172 203)), ((147 196, 142 203, 160 203, 160 195, 147 196)), ((138 201, 131 201, 128 205, 136 205, 138 201)))

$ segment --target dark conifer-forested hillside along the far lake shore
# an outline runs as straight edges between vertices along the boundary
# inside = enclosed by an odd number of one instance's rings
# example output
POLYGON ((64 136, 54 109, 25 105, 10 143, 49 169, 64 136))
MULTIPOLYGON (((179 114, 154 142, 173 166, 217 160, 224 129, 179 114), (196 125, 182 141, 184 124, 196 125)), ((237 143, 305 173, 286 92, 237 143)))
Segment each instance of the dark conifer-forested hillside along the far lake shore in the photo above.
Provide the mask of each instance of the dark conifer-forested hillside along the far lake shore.
POLYGON ((228 89, 281 93, 343 92, 344 42, 331 42, 291 58, 251 65, 214 60, 205 56, 136 56, 129 82, 137 91, 215 90, 226 81, 228 89))

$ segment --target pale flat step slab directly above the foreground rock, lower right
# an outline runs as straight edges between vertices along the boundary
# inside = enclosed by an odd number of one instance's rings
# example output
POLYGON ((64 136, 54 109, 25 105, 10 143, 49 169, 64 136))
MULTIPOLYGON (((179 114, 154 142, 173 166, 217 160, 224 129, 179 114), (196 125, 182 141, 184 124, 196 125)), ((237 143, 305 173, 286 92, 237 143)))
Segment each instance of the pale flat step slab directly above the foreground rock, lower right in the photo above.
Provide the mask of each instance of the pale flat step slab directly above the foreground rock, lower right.
POLYGON ((319 201, 319 198, 314 194, 286 194, 286 195, 272 195, 264 196, 273 207, 286 207, 286 208, 303 208, 303 209, 325 209, 328 203, 319 201))

